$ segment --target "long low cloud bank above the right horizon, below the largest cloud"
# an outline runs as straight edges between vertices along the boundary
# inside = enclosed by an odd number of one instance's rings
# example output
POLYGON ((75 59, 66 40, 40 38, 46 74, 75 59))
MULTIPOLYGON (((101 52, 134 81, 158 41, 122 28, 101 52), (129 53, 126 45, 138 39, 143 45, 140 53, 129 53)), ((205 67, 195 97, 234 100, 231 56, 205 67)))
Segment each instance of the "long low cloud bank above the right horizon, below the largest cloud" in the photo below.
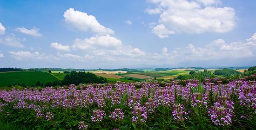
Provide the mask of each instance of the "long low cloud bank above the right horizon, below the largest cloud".
MULTIPOLYGON (((250 38, 253 39, 254 35, 250 38)), ((256 58, 256 41, 226 43, 223 39, 216 39, 204 47, 189 44, 168 52, 168 55, 157 54, 159 59, 171 59, 173 63, 196 60, 220 60, 225 58, 256 58)), ((162 49, 162 52, 165 49, 162 49)))

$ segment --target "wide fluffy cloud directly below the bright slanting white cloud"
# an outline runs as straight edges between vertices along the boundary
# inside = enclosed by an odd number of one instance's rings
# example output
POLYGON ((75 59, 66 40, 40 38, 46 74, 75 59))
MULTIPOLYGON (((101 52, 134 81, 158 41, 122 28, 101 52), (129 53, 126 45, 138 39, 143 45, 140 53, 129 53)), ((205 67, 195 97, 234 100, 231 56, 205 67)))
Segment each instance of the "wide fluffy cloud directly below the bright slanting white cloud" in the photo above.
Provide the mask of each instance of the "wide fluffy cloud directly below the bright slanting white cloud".
POLYGON ((101 61, 126 61, 129 58, 139 58, 146 55, 139 48, 123 45, 120 39, 109 35, 75 39, 72 48, 74 50, 84 50, 90 56, 101 61))

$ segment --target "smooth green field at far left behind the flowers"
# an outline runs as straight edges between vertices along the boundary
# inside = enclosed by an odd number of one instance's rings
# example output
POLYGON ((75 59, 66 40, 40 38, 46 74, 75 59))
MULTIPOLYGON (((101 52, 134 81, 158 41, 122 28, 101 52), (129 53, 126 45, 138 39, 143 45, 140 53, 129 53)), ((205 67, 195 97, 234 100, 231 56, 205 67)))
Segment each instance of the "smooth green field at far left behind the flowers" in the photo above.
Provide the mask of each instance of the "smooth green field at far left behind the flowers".
POLYGON ((13 83, 25 83, 27 85, 36 84, 40 81, 42 84, 47 82, 53 82, 58 80, 53 75, 47 72, 37 72, 37 71, 19 71, 19 72, 1 72, 0 73, 0 86, 8 86, 13 83))

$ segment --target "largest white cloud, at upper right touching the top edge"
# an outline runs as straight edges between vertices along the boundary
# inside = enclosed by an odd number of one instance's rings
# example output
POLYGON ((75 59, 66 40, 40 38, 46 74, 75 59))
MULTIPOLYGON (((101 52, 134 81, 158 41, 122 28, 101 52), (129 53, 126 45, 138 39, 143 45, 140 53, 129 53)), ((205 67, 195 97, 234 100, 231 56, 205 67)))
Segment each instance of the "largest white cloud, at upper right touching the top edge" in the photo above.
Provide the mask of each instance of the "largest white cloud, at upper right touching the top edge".
POLYGON ((160 13, 158 25, 152 29, 160 38, 173 33, 229 32, 236 26, 236 12, 232 7, 216 7, 219 0, 150 0, 160 13))

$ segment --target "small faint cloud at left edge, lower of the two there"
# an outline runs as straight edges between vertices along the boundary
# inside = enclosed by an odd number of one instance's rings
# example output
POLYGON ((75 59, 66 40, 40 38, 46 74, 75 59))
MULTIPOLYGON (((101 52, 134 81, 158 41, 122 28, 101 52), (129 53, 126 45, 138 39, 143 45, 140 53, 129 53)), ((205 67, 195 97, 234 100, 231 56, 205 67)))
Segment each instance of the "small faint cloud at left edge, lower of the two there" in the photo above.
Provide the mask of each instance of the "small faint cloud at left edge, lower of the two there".
POLYGON ((17 39, 14 34, 5 37, 3 40, 0 40, 1 44, 23 48, 24 45, 20 43, 20 39, 17 39))

